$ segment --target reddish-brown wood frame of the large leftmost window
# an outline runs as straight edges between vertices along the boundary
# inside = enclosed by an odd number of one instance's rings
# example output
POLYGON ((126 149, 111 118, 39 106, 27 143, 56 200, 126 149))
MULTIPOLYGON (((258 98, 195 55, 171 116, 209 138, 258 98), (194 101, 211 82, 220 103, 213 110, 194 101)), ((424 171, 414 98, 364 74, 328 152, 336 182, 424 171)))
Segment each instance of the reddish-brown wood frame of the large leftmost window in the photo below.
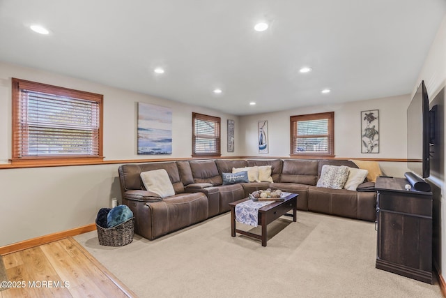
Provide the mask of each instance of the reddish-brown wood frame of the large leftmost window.
POLYGON ((58 87, 39 82, 31 82, 27 80, 12 78, 12 158, 10 163, 12 165, 24 166, 44 166, 44 165, 84 165, 89 163, 102 162, 103 156, 103 102, 104 96, 102 94, 94 94, 86 91, 79 91, 75 89, 68 89, 65 87, 58 87), (98 155, 77 154, 77 155, 57 155, 57 156, 20 156, 20 144, 23 136, 20 134, 20 100, 21 90, 28 89, 30 91, 44 92, 56 96, 66 96, 70 98, 78 98, 82 100, 89 100, 98 105, 98 133, 95 135, 98 139, 98 155))

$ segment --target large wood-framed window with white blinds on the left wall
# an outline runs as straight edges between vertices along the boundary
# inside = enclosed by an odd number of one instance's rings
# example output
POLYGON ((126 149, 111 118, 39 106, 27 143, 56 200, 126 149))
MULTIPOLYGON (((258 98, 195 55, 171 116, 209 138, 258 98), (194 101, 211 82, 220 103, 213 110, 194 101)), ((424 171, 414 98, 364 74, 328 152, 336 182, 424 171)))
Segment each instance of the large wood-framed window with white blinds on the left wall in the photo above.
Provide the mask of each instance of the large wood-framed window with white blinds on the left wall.
POLYGON ((13 78, 13 161, 102 159, 102 99, 13 78))

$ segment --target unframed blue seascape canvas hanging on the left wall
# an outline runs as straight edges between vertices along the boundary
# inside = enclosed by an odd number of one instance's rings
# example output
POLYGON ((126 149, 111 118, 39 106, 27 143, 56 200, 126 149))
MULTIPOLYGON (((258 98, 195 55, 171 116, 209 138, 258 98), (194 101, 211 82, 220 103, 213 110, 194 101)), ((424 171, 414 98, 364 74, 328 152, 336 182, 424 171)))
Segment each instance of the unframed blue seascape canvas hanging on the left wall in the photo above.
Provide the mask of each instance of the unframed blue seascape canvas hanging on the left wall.
POLYGON ((138 154, 172 154, 172 110, 138 103, 138 154))

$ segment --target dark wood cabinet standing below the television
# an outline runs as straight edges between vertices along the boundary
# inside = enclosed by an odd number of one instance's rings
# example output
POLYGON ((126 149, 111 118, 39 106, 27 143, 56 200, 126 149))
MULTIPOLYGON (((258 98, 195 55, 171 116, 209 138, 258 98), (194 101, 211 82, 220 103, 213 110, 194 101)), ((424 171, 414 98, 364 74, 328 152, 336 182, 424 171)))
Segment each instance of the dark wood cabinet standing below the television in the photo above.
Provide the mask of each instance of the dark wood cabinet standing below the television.
POLYGON ((376 268, 432 283, 432 193, 405 178, 379 177, 376 268))

